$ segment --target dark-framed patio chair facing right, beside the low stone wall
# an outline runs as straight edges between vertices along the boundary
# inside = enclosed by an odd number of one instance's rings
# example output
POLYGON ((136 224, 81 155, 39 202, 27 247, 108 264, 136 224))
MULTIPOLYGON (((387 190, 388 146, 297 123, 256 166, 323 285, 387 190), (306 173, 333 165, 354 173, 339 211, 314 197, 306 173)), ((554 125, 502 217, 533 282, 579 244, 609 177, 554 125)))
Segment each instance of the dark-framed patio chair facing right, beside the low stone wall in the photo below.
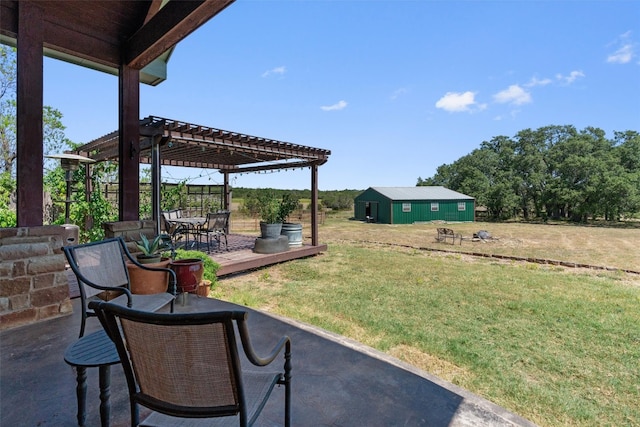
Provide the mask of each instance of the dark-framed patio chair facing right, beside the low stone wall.
POLYGON ((69 261, 71 270, 78 279, 82 309, 80 337, 84 335, 87 317, 95 316, 88 304, 92 300, 101 299, 100 294, 114 296, 111 302, 115 304, 145 311, 157 311, 167 304, 171 304, 170 310, 173 312, 176 296, 175 272, 169 268, 149 267, 140 264, 131 255, 122 237, 82 245, 64 246, 62 250, 69 261), (132 294, 126 262, 133 263, 143 270, 169 274, 167 292, 151 295, 132 294))

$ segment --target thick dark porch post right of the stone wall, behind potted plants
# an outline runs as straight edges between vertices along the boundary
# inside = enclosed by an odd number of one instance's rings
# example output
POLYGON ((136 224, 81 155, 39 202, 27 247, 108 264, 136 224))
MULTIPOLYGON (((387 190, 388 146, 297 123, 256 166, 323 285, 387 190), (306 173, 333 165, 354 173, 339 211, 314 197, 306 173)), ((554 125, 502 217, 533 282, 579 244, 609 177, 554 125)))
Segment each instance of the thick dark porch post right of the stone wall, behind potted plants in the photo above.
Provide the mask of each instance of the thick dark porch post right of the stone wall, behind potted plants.
POLYGON ((126 64, 118 75, 118 200, 120 221, 140 217, 140 72, 126 64))

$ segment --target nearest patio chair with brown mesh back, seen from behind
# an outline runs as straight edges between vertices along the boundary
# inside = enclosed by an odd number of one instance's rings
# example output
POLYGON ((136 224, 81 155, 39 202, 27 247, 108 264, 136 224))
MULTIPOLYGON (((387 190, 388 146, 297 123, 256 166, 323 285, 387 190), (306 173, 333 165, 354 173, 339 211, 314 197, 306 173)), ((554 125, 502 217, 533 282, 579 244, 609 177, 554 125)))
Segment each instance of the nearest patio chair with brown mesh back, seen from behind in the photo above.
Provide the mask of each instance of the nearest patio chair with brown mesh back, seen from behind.
POLYGON ((132 426, 251 426, 276 385, 284 386, 284 425, 290 426, 291 341, 283 336, 260 357, 246 311, 148 313, 108 302, 91 307, 122 361, 132 426), (236 333, 253 370, 241 366, 236 333), (269 368, 282 353, 283 368, 269 368), (152 411, 142 422, 139 406, 152 411))

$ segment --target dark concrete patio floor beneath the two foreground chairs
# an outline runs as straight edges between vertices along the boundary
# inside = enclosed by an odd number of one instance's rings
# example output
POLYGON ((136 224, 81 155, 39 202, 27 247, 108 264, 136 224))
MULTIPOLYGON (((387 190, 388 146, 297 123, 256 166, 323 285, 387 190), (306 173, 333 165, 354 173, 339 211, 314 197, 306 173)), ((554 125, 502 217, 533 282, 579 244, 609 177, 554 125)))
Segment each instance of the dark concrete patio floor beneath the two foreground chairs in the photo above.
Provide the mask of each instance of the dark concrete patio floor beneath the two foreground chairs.
MULTIPOLYGON (((0 332, 0 425, 75 426, 75 371, 63 360, 77 339, 74 314, 0 332)), ((238 309, 190 295, 176 311, 238 309)), ((369 347, 288 319, 250 311, 258 351, 282 335, 293 346, 294 426, 534 426, 493 403, 369 347)), ((88 333, 98 330, 88 320, 88 333)), ((98 370, 88 369, 87 425, 100 425, 98 370)), ((282 425, 284 394, 276 389, 257 423, 282 425)), ((144 411, 141 411, 144 414, 144 411)), ((126 383, 120 365, 111 369, 111 425, 129 425, 126 383)))

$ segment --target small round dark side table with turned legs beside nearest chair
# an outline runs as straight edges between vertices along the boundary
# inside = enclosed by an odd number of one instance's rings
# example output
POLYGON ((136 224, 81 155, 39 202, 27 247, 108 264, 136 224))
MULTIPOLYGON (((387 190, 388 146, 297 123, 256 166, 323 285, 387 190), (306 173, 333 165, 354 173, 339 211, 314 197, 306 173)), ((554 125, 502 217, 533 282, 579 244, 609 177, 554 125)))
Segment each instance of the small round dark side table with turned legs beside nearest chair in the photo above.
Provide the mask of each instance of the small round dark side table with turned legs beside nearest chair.
POLYGON ((100 385, 100 424, 109 426, 111 413, 111 365, 120 363, 113 341, 103 330, 85 335, 71 344, 64 353, 64 361, 76 368, 76 396, 78 399, 78 425, 86 422, 87 368, 98 368, 100 385))

